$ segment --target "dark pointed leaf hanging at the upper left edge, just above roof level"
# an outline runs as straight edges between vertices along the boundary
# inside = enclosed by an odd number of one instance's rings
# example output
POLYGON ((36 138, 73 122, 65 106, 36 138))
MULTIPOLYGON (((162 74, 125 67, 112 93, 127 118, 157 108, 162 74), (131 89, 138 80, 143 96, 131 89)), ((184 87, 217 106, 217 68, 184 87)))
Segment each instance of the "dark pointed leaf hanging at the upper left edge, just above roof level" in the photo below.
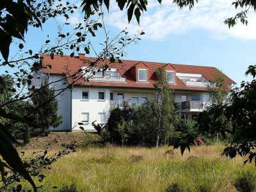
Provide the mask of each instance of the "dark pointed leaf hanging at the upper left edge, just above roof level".
POLYGON ((11 42, 12 38, 0 28, 0 51, 6 62, 8 62, 11 42))

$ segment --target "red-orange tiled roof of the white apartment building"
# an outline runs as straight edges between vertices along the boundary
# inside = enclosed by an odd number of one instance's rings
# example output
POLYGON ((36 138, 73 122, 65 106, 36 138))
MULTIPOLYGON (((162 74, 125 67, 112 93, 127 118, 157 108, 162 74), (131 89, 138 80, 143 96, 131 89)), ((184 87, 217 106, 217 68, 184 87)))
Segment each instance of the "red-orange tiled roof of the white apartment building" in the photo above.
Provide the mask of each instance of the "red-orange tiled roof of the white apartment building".
MULTIPOLYGON (((68 83, 81 84, 84 86, 111 86, 111 87, 129 87, 129 88, 154 88, 154 83, 156 83, 156 69, 165 65, 170 65, 168 68, 174 68, 176 73, 189 73, 189 74, 202 74, 206 79, 211 80, 212 74, 218 71, 215 67, 202 67, 195 65, 179 65, 179 64, 166 64, 157 62, 146 62, 146 61, 131 61, 122 60, 122 63, 110 63, 108 60, 97 61, 94 67, 102 67, 103 65, 108 65, 111 68, 117 68, 121 76, 126 78, 125 83, 113 83, 113 82, 94 82, 84 81, 83 73, 79 72, 81 67, 90 67, 92 62, 96 61, 96 58, 84 58, 79 59, 78 56, 71 58, 70 56, 54 56, 51 60, 49 55, 42 55, 42 67, 45 73, 51 74, 65 74, 68 79, 68 83), (149 81, 147 83, 136 82, 134 74, 132 74, 132 68, 136 65, 145 65, 148 67, 148 77, 149 81), (49 67, 51 65, 51 67, 49 67), (76 74, 76 76, 74 76, 76 74)), ((144 67, 145 67, 144 66, 144 67)), ((135 75, 136 77, 136 75, 135 75)), ((235 82, 226 76, 226 82, 230 84, 235 84, 235 82)), ((175 84, 170 84, 170 88, 174 90, 207 90, 207 87, 202 86, 186 86, 179 77, 175 76, 175 84)))

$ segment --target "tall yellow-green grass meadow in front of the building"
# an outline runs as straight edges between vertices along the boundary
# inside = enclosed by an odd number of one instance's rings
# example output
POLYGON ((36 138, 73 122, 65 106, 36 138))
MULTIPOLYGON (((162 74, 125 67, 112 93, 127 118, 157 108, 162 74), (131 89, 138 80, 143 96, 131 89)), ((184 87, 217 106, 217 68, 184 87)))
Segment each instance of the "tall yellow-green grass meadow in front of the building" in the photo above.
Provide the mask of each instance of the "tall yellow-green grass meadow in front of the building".
POLYGON ((173 183, 182 191, 236 191, 236 175, 248 171, 256 175, 255 166, 243 166, 241 157, 221 157, 223 148, 192 147, 184 156, 172 147, 78 148, 44 170, 45 179, 36 184, 43 185, 42 191, 54 191, 52 186, 58 191, 64 184, 76 184, 78 191, 164 191, 173 183))

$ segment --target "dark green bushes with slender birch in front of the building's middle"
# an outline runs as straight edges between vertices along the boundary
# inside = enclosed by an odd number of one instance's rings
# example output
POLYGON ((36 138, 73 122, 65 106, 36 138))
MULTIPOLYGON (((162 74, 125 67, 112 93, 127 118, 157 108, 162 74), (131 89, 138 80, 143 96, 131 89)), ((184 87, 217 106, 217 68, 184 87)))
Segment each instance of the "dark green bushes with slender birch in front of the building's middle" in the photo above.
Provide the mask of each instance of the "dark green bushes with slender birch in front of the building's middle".
MULTIPOLYGON (((141 106, 127 106, 111 111, 104 131, 105 141, 122 145, 158 147, 170 142, 175 127, 180 124, 179 106, 168 88, 164 68, 157 70, 156 97, 141 106)), ((99 125, 94 125, 99 129, 99 125)), ((100 129, 102 130, 102 129, 100 129)))

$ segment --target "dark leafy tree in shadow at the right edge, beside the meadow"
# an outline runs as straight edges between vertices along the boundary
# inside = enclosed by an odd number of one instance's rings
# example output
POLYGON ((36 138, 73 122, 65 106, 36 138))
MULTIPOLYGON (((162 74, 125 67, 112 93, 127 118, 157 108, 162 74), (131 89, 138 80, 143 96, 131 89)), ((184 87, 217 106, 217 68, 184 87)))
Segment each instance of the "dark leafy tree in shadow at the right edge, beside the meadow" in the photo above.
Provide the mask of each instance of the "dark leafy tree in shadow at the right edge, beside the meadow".
POLYGON ((252 82, 242 82, 241 91, 232 90, 228 102, 216 104, 209 111, 200 114, 200 123, 204 130, 232 134, 230 146, 223 150, 223 155, 230 158, 247 156, 244 161, 256 164, 256 65, 250 65, 246 76, 253 77, 252 82), (211 118, 209 118, 209 116, 211 118), (219 120, 220 116, 225 121, 219 120))

